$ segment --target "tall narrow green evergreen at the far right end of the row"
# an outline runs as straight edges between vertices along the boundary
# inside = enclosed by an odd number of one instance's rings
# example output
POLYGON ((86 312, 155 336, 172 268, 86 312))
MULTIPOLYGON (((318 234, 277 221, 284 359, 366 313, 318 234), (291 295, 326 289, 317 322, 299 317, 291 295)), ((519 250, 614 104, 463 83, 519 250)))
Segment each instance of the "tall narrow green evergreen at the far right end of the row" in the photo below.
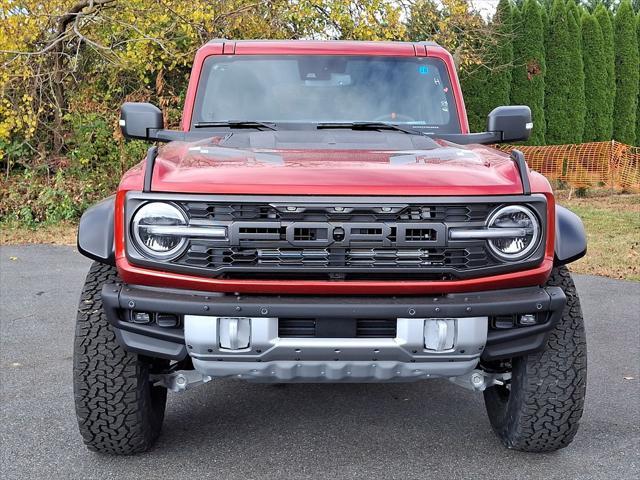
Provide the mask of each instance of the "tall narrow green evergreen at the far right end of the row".
POLYGON ((638 33, 636 18, 629 0, 622 0, 615 20, 616 100, 614 104, 613 138, 633 144, 636 140, 638 107, 638 33))

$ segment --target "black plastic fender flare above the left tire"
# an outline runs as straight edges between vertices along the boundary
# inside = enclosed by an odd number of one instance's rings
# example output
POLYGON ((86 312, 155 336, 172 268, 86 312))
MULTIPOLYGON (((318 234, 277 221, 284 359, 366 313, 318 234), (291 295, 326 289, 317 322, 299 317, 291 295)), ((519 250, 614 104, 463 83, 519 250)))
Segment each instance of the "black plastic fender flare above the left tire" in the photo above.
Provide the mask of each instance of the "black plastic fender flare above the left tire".
POLYGON ((115 198, 112 195, 89 207, 78 226, 78 251, 85 257, 114 266, 115 198))

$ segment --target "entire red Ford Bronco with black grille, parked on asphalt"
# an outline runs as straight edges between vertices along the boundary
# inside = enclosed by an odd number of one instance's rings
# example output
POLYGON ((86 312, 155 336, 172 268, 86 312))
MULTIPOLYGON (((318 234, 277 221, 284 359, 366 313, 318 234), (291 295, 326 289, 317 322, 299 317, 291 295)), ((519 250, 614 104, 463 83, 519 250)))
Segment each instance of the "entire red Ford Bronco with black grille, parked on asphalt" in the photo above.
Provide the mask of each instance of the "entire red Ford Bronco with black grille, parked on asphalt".
POLYGON ((586 252, 521 152, 526 106, 470 133, 433 43, 215 40, 181 130, 126 103, 152 146, 80 221, 95 260, 74 390, 95 451, 149 449, 167 390, 449 379, 509 448, 568 445, 586 343, 566 264, 586 252))

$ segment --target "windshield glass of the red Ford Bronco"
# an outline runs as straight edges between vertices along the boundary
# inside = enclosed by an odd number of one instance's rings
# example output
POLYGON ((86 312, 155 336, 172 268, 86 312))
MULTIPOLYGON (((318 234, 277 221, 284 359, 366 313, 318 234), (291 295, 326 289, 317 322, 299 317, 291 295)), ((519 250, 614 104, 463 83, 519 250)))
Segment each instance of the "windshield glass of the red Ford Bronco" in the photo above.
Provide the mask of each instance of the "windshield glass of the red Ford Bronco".
POLYGON ((459 133, 444 63, 428 57, 231 55, 205 60, 193 124, 387 122, 459 133))

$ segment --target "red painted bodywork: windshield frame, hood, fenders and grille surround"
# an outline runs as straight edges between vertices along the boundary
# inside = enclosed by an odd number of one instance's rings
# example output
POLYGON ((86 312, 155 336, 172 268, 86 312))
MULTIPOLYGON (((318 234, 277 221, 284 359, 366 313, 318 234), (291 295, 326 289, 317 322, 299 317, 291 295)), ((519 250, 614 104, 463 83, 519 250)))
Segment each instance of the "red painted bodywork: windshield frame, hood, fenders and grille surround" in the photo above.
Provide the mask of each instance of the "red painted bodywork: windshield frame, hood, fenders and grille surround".
MULTIPOLYGON (((182 128, 191 126, 193 103, 202 64, 210 55, 306 54, 431 56, 441 59, 449 71, 460 128, 469 126, 462 90, 452 56, 444 49, 424 44, 385 42, 237 41, 212 42, 198 50, 187 90, 182 128)), ((509 157, 480 145, 468 149, 480 161, 439 161, 439 150, 426 159, 398 163, 398 152, 376 150, 242 151, 231 158, 190 152, 193 144, 174 142, 164 146, 156 162, 153 191, 214 194, 297 195, 510 195, 522 192, 517 170, 509 157), (265 162, 256 154, 278 156, 265 162), (435 153, 435 156, 433 155, 435 153)), ((446 146, 443 144, 443 146, 446 146)), ((465 151, 466 149, 463 149, 465 151)), ((227 152, 228 153, 228 152, 227 152)), ((125 282, 212 292, 274 294, 433 294, 541 285, 553 266, 554 229, 547 232, 546 254, 536 268, 522 272, 456 281, 317 281, 223 280, 142 268, 128 262, 124 251, 124 199, 129 190, 141 190, 144 164, 127 172, 116 197, 115 244, 118 272, 125 282)), ((548 201, 548 225, 555 225, 555 202, 547 180, 536 172, 529 179, 534 193, 548 201)))

